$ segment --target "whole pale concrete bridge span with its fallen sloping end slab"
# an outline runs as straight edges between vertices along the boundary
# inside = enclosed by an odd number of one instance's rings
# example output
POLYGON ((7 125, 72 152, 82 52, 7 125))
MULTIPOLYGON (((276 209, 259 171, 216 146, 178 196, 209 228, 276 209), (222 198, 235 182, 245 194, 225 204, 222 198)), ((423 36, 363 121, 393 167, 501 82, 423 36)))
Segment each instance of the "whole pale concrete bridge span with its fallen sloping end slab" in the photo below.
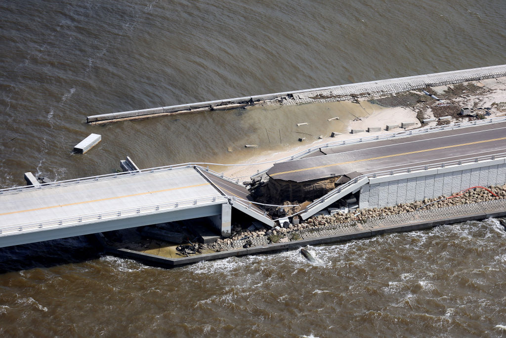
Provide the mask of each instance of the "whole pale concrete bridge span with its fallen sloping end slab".
POLYGON ((232 208, 273 225, 248 199, 243 185, 196 166, 14 187, 0 190, 0 247, 199 217, 229 236, 232 208))

